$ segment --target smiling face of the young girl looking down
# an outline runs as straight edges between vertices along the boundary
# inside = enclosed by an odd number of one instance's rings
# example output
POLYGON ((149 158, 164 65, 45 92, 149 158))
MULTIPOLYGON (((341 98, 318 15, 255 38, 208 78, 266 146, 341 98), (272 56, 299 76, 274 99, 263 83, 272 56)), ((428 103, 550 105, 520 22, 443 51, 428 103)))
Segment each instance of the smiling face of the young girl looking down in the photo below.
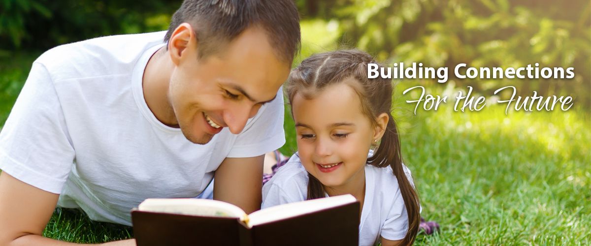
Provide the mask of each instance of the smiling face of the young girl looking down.
POLYGON ((346 188, 365 181, 369 147, 376 131, 361 111, 352 87, 339 83, 306 99, 292 101, 297 145, 304 168, 329 188, 346 188))

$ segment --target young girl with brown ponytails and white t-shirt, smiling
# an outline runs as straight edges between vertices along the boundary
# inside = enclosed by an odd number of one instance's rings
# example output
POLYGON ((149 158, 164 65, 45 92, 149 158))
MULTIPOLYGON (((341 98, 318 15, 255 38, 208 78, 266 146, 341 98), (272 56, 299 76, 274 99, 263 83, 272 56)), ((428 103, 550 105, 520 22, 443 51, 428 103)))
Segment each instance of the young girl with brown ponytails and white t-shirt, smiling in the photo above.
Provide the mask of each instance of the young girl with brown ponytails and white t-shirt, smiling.
POLYGON ((312 55, 292 71, 285 87, 298 152, 265 183, 262 208, 351 194, 361 203, 359 245, 409 245, 418 195, 390 114, 391 81, 368 79, 368 63, 376 61, 344 50, 312 55))

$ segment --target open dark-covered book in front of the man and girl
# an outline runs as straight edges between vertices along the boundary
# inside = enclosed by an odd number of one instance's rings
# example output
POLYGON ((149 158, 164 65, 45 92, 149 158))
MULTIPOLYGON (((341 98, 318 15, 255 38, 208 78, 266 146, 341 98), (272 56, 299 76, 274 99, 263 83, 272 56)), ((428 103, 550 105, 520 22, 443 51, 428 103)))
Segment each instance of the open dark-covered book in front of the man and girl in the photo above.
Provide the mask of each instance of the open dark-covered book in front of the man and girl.
POLYGON ((146 199, 131 214, 139 246, 358 244, 359 202, 352 195, 252 214, 208 199, 146 199))

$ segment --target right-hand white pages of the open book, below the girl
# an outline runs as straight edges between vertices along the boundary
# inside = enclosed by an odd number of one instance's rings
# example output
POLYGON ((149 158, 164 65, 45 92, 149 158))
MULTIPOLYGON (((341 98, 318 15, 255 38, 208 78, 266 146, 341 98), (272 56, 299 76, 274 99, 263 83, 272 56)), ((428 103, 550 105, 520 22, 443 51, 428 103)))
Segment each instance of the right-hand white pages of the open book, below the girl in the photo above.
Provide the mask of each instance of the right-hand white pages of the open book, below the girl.
POLYGON ((355 199, 355 196, 340 195, 272 206, 271 208, 265 208, 248 215, 248 226, 252 227, 253 225, 265 224, 267 222, 278 221, 280 219, 296 217, 303 214, 310 214, 311 212, 350 204, 356 201, 357 199, 355 199))

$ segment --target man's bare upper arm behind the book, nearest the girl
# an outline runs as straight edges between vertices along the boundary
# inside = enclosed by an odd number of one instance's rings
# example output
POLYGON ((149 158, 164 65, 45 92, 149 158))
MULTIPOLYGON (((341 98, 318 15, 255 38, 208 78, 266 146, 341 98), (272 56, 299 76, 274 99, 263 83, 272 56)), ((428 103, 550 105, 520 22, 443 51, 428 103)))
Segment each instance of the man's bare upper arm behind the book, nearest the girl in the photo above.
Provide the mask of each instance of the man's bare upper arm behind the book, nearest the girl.
POLYGON ((246 214, 261 209, 264 158, 224 159, 216 170, 213 199, 239 206, 246 214))

